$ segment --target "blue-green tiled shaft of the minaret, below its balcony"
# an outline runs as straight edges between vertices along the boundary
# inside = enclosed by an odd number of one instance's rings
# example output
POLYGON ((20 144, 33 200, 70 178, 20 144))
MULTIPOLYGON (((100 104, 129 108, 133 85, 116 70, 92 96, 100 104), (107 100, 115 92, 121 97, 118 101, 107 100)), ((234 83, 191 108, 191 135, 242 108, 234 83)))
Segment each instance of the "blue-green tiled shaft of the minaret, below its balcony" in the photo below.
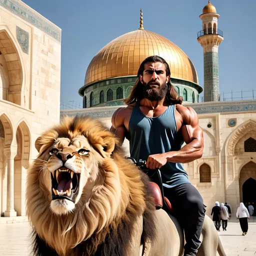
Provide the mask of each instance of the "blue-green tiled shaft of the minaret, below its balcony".
POLYGON ((204 101, 219 100, 218 53, 203 54, 204 101))

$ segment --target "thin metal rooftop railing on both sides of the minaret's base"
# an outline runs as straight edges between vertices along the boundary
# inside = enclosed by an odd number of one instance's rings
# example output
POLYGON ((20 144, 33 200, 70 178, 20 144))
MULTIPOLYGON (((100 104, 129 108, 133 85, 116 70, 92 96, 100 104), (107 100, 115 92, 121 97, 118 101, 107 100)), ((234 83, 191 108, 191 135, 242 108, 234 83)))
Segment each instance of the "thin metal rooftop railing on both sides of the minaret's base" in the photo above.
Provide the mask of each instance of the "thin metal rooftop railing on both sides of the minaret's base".
MULTIPOLYGON (((199 102, 203 102, 203 96, 199 97, 199 102)), ((240 90, 220 93, 220 101, 234 101, 234 100, 247 100, 256 99, 255 90, 240 90)))

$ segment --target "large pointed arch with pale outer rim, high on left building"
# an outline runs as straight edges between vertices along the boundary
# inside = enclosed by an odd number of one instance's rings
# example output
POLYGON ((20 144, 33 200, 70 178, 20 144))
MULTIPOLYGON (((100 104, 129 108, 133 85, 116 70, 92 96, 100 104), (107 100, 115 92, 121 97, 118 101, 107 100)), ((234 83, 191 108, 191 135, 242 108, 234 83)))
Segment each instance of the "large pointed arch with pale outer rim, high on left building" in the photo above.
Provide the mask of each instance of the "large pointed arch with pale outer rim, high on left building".
POLYGON ((20 46, 16 43, 16 40, 9 29, 4 25, 0 25, 0 53, 4 57, 8 75, 6 100, 25 106, 24 65, 21 61, 20 46))

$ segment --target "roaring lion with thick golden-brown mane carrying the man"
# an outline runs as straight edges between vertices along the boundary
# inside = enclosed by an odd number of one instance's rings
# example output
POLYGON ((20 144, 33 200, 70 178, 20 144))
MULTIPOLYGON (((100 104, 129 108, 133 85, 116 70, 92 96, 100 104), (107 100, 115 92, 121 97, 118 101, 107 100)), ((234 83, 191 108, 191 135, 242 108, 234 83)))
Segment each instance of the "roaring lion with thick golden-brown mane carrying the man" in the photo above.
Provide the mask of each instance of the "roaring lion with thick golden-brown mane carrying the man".
MULTIPOLYGON (((155 209, 148 177, 98 120, 65 117, 35 147, 26 186, 33 255, 182 255, 175 217, 155 209)), ((208 217, 201 239, 198 255, 225 255, 208 217)))

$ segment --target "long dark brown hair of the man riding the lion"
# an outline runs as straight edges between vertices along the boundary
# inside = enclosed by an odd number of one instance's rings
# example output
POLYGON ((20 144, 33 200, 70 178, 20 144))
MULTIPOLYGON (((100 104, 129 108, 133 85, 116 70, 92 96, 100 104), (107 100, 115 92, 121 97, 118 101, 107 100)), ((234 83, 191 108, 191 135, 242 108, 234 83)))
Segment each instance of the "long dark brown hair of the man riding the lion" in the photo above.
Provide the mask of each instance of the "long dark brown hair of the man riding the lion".
MULTIPOLYGON (((125 104, 130 105, 130 104, 136 102, 137 100, 140 100, 140 99, 143 98, 143 84, 140 82, 139 75, 143 75, 144 64, 148 63, 148 62, 161 62, 161 63, 163 63, 164 67, 165 67, 166 76, 170 76, 169 65, 162 57, 154 55, 154 56, 149 56, 149 57, 145 58, 139 66, 138 73, 137 73, 137 80, 136 80, 136 82, 134 83, 134 85, 132 87, 130 95, 127 98, 124 99, 125 104)), ((165 95, 165 102, 168 105, 181 104, 183 98, 178 95, 178 93, 174 89, 173 85, 171 84, 170 79, 166 83, 166 85, 168 87, 168 90, 167 90, 167 93, 165 95)))

